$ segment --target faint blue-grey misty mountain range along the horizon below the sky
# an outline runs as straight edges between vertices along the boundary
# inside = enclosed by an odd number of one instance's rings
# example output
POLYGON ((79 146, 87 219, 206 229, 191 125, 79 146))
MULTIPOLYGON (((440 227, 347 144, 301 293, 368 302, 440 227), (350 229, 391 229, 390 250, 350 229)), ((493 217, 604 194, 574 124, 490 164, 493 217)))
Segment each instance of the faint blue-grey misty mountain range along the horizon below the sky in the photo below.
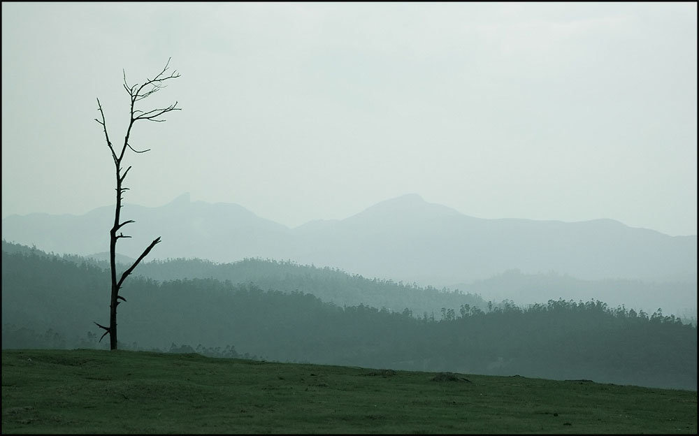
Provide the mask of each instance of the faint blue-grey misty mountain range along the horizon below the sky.
MULTIPOLYGON (((178 196, 157 208, 126 204, 121 254, 133 258, 161 236, 148 259, 245 258, 331 266, 365 277, 448 286, 505 270, 556 271, 581 279, 696 282, 697 237, 631 228, 612 219, 534 221, 480 219, 417 194, 382 201, 347 219, 310 221, 296 228, 233 203, 178 196)), ((2 237, 48 252, 90 255, 108 247, 113 206, 85 215, 11 215, 2 237)))

